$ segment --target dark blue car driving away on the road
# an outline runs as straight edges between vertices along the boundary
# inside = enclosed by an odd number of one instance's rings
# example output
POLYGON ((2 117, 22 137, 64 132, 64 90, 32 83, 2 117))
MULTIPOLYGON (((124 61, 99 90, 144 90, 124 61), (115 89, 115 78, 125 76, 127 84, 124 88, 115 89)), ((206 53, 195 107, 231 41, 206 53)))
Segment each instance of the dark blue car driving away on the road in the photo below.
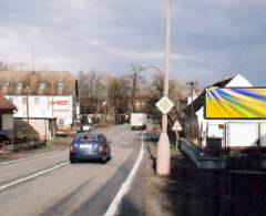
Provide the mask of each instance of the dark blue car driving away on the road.
POLYGON ((106 163, 110 158, 110 142, 103 134, 78 133, 70 145, 70 163, 86 160, 99 160, 106 163))

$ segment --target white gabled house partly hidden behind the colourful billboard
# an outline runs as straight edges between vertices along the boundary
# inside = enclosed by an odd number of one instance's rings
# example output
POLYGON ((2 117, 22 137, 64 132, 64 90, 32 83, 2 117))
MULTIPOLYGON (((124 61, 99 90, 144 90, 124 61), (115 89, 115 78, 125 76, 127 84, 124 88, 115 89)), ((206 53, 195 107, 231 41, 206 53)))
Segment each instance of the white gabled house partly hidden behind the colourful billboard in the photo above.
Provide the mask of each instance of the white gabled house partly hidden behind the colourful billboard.
MULTIPOLYGON (((252 83, 241 74, 222 80, 207 88, 214 86, 253 88, 252 83)), ((266 146, 266 120, 205 119, 205 96, 206 93, 203 91, 184 110, 186 131, 193 136, 191 141, 194 144, 206 150, 266 146), (193 127, 194 131, 190 131, 190 127, 193 127)))

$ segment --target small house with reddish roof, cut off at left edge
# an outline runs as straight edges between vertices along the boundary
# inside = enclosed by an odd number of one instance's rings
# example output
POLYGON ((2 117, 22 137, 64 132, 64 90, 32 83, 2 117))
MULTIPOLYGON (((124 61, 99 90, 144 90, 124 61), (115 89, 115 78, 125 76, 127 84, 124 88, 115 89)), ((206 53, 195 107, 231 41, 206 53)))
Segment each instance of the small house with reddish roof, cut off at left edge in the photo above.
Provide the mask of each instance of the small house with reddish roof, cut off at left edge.
POLYGON ((0 95, 0 134, 13 136, 13 112, 17 110, 4 96, 0 95))

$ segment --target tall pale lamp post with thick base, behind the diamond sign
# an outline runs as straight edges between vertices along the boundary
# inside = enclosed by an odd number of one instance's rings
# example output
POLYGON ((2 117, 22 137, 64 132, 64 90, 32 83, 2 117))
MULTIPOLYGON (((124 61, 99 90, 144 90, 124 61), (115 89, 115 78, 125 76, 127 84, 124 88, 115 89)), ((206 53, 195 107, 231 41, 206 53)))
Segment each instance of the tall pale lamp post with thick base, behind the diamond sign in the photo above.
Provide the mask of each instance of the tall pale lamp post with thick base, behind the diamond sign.
MULTIPOLYGON (((164 96, 168 95, 168 69, 170 69, 170 51, 171 51, 171 3, 166 0, 166 45, 164 56, 164 96)), ((157 175, 170 174, 170 141, 167 135, 167 114, 162 115, 162 132, 157 144, 157 175)))

